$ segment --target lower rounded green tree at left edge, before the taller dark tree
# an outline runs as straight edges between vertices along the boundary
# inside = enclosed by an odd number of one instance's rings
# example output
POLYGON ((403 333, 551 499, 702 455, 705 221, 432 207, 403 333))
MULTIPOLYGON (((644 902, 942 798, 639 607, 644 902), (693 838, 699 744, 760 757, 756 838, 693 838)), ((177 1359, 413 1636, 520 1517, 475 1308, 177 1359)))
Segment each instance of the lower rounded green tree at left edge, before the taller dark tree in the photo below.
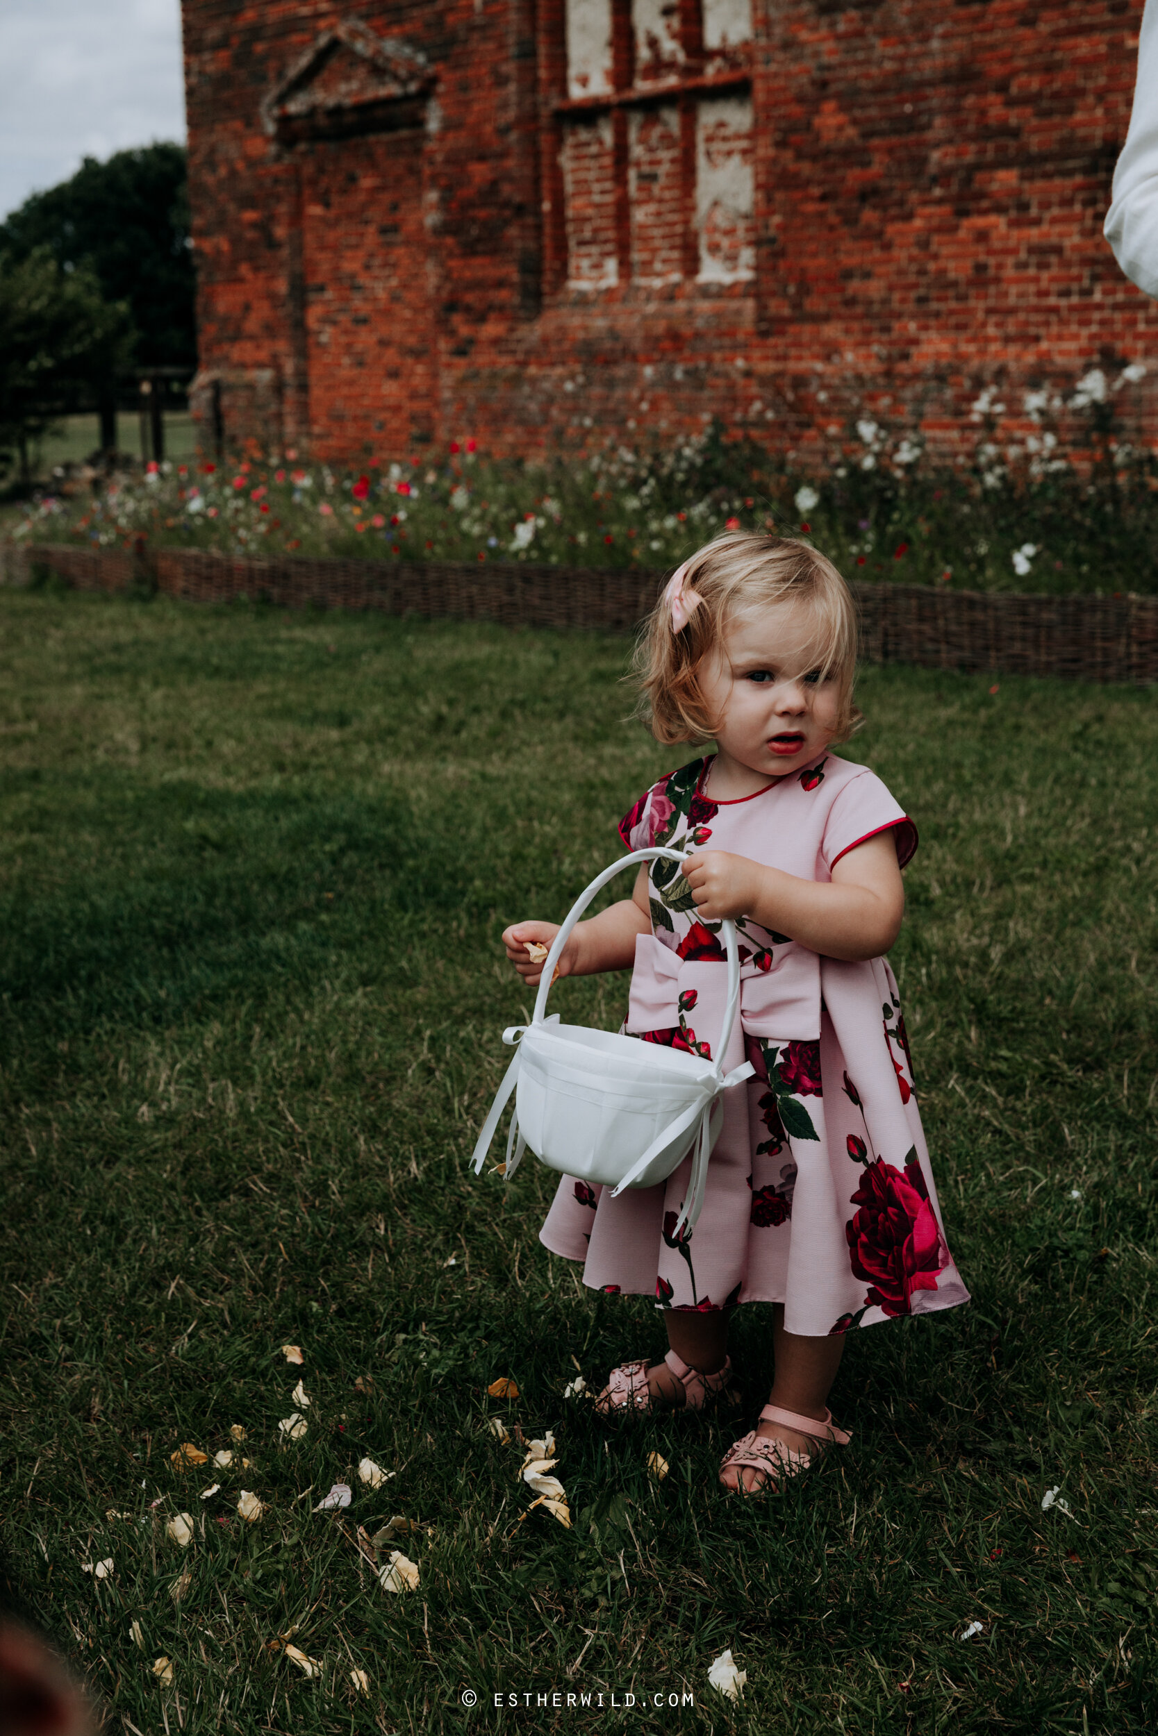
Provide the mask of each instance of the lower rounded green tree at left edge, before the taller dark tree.
POLYGON ((66 271, 45 247, 19 260, 0 253, 0 458, 16 450, 24 481, 30 446, 101 392, 130 332, 128 309, 104 300, 90 266, 66 271))

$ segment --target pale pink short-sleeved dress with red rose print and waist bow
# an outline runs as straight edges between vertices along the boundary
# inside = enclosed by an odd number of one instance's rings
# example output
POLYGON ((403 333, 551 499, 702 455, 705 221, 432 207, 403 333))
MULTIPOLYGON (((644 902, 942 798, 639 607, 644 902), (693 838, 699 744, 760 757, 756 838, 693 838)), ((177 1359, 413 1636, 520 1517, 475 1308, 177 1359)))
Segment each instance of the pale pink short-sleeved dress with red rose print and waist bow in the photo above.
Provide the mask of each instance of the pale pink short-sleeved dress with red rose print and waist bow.
MULTIPOLYGON (((875 773, 835 755, 755 795, 701 793, 710 760, 653 785, 620 823, 627 849, 731 851, 830 880, 858 844, 917 828, 875 773)), ((651 865, 651 934, 635 941, 625 1029, 714 1059, 727 967, 675 863, 651 865)), ((783 1302, 788 1332, 821 1337, 969 1300, 944 1240, 896 981, 885 958, 821 958, 747 917, 740 1019, 726 1068, 757 1076, 724 1099, 694 1231, 674 1236, 691 1160, 618 1200, 564 1175, 540 1241, 583 1262, 595 1290, 710 1311, 783 1302)))

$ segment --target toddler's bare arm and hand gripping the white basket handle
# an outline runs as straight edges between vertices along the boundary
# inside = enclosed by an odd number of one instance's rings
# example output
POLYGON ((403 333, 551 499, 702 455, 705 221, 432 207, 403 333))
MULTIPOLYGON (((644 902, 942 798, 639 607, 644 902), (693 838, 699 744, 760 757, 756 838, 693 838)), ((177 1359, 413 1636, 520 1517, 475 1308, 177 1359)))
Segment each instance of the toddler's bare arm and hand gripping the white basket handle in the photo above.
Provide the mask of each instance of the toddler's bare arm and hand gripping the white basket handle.
POLYGON ((696 913, 708 922, 752 917, 826 958, 878 958, 905 917, 905 885, 891 832, 842 856, 832 882, 800 880, 747 856, 703 851, 684 868, 696 913))

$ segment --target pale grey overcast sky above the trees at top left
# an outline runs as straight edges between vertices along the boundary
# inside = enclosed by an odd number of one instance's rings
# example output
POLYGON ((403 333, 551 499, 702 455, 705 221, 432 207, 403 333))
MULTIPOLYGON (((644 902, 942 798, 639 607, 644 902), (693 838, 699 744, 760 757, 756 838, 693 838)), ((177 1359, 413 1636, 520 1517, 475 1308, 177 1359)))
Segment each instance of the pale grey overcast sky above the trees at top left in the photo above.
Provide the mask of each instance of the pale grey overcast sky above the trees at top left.
POLYGON ((0 0, 0 217, 83 156, 184 135, 181 0, 0 0))

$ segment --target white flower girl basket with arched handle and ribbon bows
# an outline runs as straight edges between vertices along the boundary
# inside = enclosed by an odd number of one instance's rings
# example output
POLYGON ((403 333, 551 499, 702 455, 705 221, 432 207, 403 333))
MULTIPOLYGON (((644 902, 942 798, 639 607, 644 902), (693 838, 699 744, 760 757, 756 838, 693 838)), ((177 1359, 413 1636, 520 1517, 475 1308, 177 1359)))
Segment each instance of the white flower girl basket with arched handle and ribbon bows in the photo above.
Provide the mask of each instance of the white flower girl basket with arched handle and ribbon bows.
POLYGON ((530 1146, 547 1168, 611 1187, 615 1198, 623 1187, 655 1187, 667 1180, 694 1146, 688 1198, 675 1226, 679 1234, 684 1222, 691 1227, 700 1217, 708 1158, 724 1120, 724 1092, 753 1073, 745 1061, 724 1075, 740 1005, 736 925, 720 925, 727 950, 727 1005, 715 1061, 642 1043, 637 1036, 561 1024, 557 1014, 547 1016, 550 979, 575 924, 608 880, 656 858, 682 863, 684 852, 632 851, 604 868, 571 906, 543 963, 531 1023, 503 1031, 503 1042, 517 1043, 517 1050, 474 1147, 474 1174, 481 1172, 507 1101, 517 1092, 507 1137, 507 1179, 530 1146))

